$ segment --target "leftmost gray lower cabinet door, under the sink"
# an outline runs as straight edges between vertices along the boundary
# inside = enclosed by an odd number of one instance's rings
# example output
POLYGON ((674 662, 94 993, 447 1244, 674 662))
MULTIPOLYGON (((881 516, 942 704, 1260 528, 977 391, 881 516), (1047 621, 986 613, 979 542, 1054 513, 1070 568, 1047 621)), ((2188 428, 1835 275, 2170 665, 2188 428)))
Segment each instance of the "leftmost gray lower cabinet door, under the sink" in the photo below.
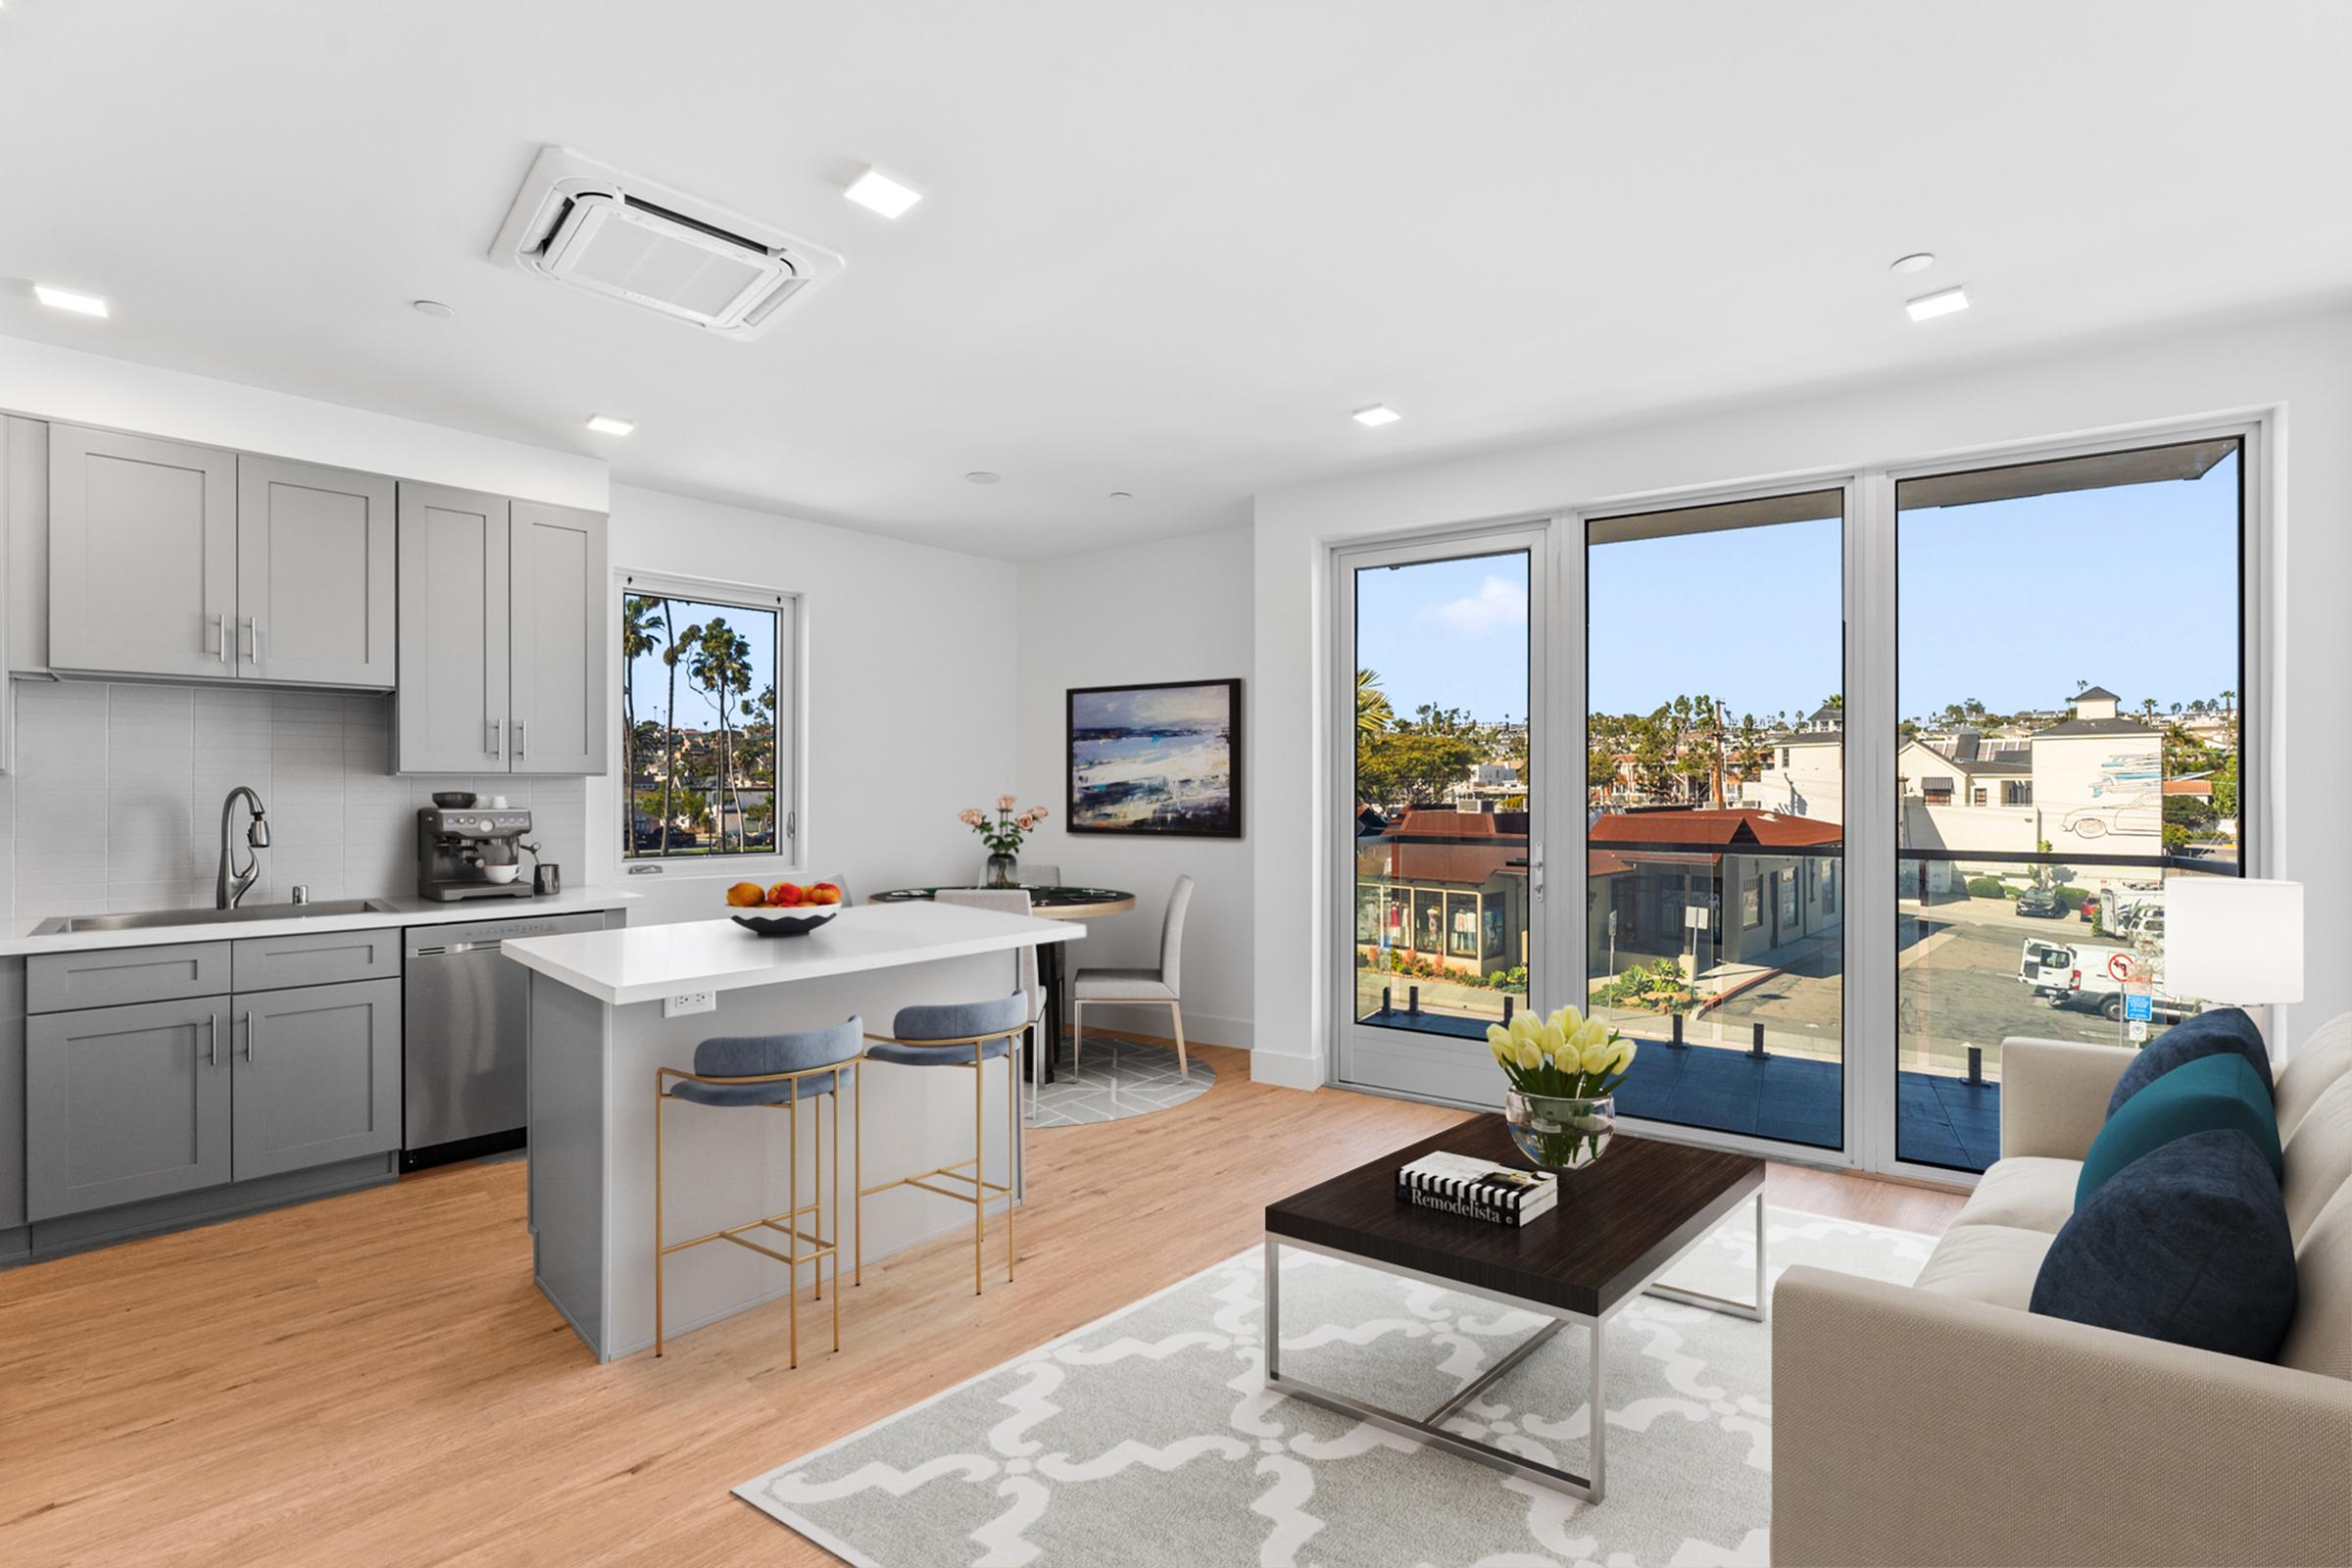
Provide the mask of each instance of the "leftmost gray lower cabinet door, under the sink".
POLYGON ((26 1215, 230 1180, 228 997, 26 1023, 26 1215))

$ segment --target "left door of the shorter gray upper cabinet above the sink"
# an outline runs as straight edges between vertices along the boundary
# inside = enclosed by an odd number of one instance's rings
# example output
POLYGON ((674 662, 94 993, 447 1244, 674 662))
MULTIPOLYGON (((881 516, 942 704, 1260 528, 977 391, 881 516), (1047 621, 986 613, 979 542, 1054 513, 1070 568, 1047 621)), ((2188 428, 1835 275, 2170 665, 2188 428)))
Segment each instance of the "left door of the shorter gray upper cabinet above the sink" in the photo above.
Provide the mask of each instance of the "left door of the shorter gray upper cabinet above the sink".
POLYGON ((49 425, 49 665, 230 679, 238 456, 49 425))

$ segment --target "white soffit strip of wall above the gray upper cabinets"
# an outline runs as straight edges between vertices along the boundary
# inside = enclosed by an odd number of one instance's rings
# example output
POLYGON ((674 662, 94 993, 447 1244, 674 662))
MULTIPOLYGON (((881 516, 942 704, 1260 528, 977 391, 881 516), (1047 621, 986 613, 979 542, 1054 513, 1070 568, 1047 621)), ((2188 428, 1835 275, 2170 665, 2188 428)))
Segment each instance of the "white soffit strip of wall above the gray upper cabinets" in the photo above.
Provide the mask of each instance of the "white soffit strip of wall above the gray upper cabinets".
POLYGON ((604 510, 602 458, 24 339, 0 339, 0 409, 604 510))

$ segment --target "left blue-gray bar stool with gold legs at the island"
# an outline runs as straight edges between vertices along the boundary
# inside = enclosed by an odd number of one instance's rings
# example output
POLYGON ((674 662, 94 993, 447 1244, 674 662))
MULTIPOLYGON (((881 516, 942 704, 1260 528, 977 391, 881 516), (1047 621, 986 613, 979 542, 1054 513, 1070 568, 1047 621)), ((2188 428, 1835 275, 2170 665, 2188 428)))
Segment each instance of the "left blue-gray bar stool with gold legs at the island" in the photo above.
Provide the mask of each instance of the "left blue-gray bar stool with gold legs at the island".
MULTIPOLYGON (((661 1324, 661 1274, 670 1253, 708 1241, 734 1241, 741 1248, 774 1258, 793 1269, 793 1288, 786 1293, 786 1321, 790 1324, 790 1363, 800 1366, 800 1265, 816 1267, 816 1295, 826 1295, 826 1258, 833 1260, 833 1349, 842 1347, 842 1098, 835 1093, 840 1074, 856 1084, 858 1041, 866 1032, 861 1018, 837 1023, 830 1030, 795 1030, 790 1034, 722 1034, 694 1046, 694 1072, 680 1067, 654 1070, 654 1354, 663 1347, 661 1324), (675 1079, 675 1084, 673 1084, 675 1079), (818 1098, 833 1105, 833 1241, 826 1241, 826 1124, 811 1117, 816 1133, 816 1194, 800 1201, 800 1105, 818 1098), (786 1211, 771 1213, 727 1229, 713 1229, 691 1241, 666 1241, 661 1222, 661 1114, 670 1100, 710 1105, 720 1110, 762 1107, 786 1112, 786 1138, 790 1175, 786 1185, 786 1211), (800 1229, 800 1220, 814 1215, 816 1234, 800 1229), (771 1229, 786 1237, 786 1251, 774 1251, 750 1241, 743 1232, 771 1229), (802 1251, 807 1246, 809 1251, 802 1251)), ((854 1157, 851 1157, 854 1159, 854 1157)))

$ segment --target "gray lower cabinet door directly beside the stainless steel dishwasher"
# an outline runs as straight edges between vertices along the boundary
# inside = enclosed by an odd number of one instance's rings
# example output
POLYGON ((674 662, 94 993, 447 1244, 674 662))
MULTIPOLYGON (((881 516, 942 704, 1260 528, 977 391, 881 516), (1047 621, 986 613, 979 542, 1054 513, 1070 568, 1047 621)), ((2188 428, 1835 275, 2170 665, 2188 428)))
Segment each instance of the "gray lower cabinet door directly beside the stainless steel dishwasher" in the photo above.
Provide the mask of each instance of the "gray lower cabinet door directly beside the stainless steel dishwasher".
POLYGON ((400 980, 235 997, 235 1180, 400 1147, 400 980))

